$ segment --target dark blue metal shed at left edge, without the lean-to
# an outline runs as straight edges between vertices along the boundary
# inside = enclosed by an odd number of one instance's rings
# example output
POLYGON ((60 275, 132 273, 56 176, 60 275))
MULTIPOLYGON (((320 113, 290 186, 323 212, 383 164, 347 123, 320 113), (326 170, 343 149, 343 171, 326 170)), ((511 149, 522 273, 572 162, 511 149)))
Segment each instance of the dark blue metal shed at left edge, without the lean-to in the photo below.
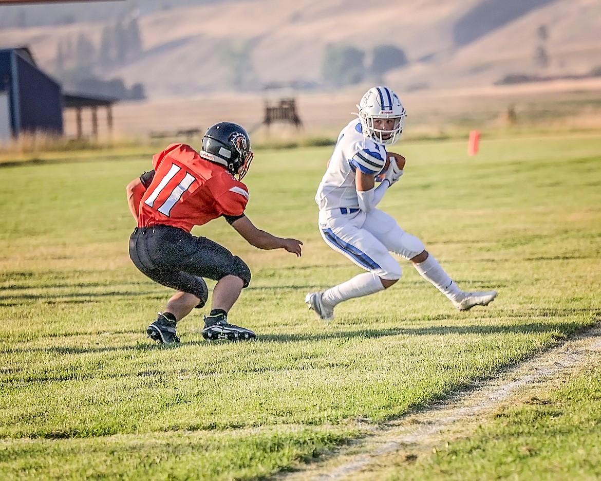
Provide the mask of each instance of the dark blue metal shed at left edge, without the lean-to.
POLYGON ((0 141, 36 132, 63 135, 61 85, 28 47, 0 49, 0 141))

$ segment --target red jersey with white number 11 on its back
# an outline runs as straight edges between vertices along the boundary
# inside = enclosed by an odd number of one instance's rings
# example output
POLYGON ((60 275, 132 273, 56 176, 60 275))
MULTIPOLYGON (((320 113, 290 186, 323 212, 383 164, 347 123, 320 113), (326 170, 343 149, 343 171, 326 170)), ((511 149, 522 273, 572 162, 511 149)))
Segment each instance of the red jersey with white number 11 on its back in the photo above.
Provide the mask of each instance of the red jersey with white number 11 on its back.
POLYGON ((189 232, 219 216, 244 212, 246 186, 192 147, 171 144, 152 162, 154 178, 140 202, 138 227, 162 224, 189 232))

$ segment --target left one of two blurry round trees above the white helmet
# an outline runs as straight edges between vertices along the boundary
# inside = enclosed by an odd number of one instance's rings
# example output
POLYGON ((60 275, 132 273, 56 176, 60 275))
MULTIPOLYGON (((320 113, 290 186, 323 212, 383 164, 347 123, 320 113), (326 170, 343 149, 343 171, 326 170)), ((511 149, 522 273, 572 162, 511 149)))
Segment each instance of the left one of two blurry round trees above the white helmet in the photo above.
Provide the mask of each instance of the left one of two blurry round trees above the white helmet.
POLYGON ((322 74, 328 84, 342 87, 361 82, 365 74, 365 52, 343 44, 326 46, 322 74))

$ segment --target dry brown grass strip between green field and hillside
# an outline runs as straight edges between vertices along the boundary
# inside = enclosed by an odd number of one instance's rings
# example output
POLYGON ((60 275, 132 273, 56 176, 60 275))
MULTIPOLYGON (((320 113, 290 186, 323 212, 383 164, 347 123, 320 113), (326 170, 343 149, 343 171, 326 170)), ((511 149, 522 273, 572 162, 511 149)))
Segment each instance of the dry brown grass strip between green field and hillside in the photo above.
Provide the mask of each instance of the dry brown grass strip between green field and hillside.
MULTIPOLYGON (((255 140, 299 137, 335 138, 356 111, 355 104, 369 85, 326 93, 263 94, 216 93, 188 99, 156 99, 121 102, 114 107, 114 138, 145 141, 151 133, 200 129, 231 120, 250 130, 255 140), (285 124, 270 129, 261 126, 264 103, 283 97, 296 99, 303 128, 285 124)), ((391 85, 394 88, 394 85, 391 85)), ((408 116, 405 138, 454 135, 465 130, 495 130, 505 127, 544 125, 557 129, 601 128, 601 78, 505 85, 453 90, 398 92, 408 116), (512 124, 509 109, 516 114, 512 124)), ((101 111, 100 138, 105 138, 106 121, 101 111)), ((84 133, 91 120, 84 113, 84 133)), ((75 136, 75 116, 65 117, 67 136, 75 136)))

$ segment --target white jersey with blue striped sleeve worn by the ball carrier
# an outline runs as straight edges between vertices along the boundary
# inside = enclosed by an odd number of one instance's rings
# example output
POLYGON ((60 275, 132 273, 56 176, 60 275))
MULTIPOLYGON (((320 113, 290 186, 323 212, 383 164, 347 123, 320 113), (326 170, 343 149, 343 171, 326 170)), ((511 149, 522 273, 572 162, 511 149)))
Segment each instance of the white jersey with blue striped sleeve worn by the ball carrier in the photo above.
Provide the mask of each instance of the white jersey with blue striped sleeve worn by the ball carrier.
POLYGON ((377 174, 386 163, 386 149, 363 135, 359 119, 341 130, 328 169, 317 188, 315 201, 320 210, 358 209, 355 171, 377 174))

